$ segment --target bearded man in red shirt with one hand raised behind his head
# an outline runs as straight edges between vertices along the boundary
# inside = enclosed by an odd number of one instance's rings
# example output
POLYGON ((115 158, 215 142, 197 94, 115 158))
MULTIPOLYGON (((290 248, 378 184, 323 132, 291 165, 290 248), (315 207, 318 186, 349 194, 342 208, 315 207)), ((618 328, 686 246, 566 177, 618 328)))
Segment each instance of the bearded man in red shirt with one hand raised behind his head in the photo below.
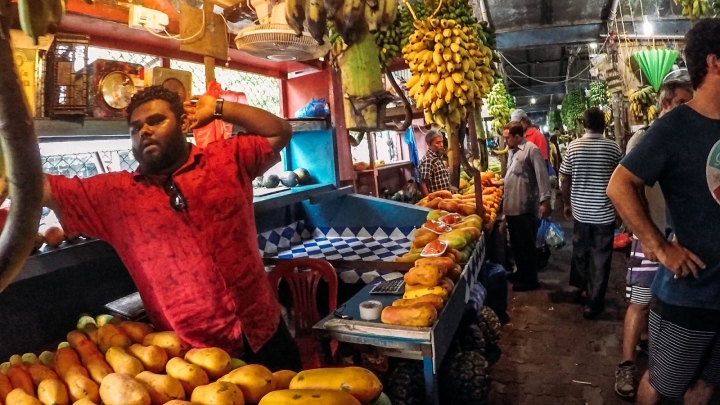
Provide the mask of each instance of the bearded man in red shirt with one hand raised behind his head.
POLYGON ((135 95, 127 114, 137 171, 48 175, 45 206, 66 231, 115 248, 157 329, 271 370, 298 370, 277 287, 258 254, 251 185, 278 162, 292 136, 289 124, 210 96, 183 105, 161 86, 135 95), (190 130, 219 118, 257 135, 205 149, 187 142, 190 130))

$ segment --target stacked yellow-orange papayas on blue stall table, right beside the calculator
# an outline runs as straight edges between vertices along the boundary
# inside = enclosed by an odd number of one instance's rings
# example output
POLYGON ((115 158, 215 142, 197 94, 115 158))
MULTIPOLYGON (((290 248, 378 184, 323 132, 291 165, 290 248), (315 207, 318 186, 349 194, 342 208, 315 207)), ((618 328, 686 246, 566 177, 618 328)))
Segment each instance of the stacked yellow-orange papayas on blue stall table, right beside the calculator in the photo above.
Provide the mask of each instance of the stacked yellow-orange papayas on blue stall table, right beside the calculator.
POLYGON ((405 273, 405 294, 385 307, 380 320, 389 325, 431 326, 452 294, 462 269, 451 257, 428 257, 415 261, 405 273))

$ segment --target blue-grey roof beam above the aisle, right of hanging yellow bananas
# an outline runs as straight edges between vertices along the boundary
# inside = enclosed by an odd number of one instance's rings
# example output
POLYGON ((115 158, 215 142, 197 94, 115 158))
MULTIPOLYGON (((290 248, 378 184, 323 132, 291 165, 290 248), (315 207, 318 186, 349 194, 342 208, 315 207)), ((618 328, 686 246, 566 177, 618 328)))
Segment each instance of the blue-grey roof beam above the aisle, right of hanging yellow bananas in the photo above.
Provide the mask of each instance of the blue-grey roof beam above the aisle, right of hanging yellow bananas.
POLYGON ((591 23, 499 32, 497 33, 497 48, 499 50, 527 49, 549 45, 595 42, 600 37, 602 26, 602 23, 591 23))

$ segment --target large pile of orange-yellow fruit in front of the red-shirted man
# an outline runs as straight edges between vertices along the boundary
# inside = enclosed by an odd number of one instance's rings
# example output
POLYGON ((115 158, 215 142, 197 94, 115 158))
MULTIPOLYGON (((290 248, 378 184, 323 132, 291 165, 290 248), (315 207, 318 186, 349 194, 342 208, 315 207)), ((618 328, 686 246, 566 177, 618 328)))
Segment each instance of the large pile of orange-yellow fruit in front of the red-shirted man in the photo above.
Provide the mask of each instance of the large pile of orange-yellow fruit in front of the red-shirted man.
POLYGON ((361 367, 273 373, 109 315, 81 316, 56 351, 0 365, 5 405, 386 404, 382 388, 361 367))

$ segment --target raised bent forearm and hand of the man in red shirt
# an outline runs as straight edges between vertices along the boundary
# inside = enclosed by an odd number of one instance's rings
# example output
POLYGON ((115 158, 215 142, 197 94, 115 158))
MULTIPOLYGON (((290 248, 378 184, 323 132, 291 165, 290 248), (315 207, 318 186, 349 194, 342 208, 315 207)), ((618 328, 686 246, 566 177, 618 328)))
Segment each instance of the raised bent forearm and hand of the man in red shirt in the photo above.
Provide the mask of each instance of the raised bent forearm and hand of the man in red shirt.
MULTIPOLYGON (((190 129, 204 127, 215 119, 216 99, 201 96, 197 104, 184 104, 190 118, 190 129)), ((290 124, 265 110, 231 101, 223 102, 222 120, 245 128, 249 133, 267 138, 270 147, 277 153, 290 143, 290 124)))

